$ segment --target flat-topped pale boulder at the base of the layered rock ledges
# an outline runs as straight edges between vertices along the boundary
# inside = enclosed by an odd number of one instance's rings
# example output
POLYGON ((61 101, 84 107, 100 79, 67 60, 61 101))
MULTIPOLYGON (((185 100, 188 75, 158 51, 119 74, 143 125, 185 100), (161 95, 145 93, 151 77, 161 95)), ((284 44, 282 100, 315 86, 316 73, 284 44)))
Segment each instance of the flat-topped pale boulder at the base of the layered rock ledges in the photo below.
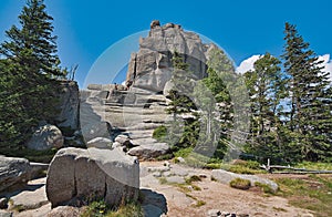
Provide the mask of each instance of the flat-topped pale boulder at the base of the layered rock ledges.
POLYGON ((166 143, 152 143, 133 147, 128 155, 137 156, 141 159, 152 159, 169 153, 170 147, 166 143))

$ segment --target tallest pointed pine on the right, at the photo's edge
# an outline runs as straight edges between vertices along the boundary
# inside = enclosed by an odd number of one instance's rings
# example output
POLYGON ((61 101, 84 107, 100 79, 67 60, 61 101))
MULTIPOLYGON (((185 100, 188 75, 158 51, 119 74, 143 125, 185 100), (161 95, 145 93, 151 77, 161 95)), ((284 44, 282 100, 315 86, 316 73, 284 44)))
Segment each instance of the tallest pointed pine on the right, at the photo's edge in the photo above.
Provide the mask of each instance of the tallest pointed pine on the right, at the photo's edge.
POLYGON ((284 33, 282 58, 289 76, 290 145, 303 159, 323 159, 331 156, 331 137, 329 138, 328 133, 332 130, 329 105, 331 95, 328 92, 328 74, 322 71, 321 62, 309 49, 309 43, 299 35, 295 25, 286 23, 284 33))

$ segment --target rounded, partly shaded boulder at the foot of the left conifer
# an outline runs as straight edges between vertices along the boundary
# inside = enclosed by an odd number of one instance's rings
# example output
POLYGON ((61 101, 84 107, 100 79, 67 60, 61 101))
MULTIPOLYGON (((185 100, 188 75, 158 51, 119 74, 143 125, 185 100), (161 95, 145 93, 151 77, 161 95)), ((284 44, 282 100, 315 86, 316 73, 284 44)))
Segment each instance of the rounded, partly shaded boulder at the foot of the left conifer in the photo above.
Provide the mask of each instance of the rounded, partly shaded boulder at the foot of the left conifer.
POLYGON ((38 127, 27 146, 31 149, 43 151, 53 147, 60 148, 63 146, 63 142, 61 131, 54 125, 45 124, 38 127))

